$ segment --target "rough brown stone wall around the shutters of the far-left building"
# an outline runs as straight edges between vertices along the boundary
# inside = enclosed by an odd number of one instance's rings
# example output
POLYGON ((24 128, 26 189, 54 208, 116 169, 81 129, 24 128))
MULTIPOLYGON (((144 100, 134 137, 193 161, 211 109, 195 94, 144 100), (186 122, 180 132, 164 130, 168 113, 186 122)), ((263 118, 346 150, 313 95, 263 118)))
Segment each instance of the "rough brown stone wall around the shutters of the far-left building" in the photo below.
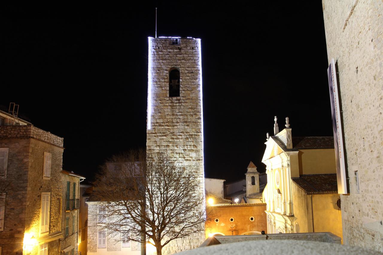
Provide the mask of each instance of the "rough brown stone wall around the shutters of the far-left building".
MULTIPOLYGON (((28 126, 6 126, 28 127, 28 126)), ((31 127, 31 126, 29 126, 31 127)), ((15 131, 21 129, 7 129, 15 131)), ((3 133, 4 134, 4 133, 3 133)), ((13 133, 15 134, 15 133, 13 133)), ((24 233, 39 237, 41 193, 51 193, 49 232, 61 230, 61 167, 63 149, 36 139, 0 137, 0 147, 8 147, 7 178, 0 180, 5 188, 4 230, 0 232, 3 253, 23 252, 24 233), (43 179, 44 152, 52 154, 51 178, 43 179), (11 244, 11 245, 7 245, 11 244)), ((49 244, 49 254, 57 254, 58 241, 49 244)), ((33 251, 37 252, 38 245, 33 251)))

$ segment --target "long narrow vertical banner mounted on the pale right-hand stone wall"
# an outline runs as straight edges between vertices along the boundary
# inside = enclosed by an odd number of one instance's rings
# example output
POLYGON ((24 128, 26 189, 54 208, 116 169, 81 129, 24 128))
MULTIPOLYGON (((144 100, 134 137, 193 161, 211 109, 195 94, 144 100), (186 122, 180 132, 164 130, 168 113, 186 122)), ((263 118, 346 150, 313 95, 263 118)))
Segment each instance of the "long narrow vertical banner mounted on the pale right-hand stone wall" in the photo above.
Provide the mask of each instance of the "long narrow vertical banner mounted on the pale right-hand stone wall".
POLYGON ((346 167, 343 147, 342 123, 340 121, 340 106, 338 96, 338 83, 336 77, 335 61, 331 59, 327 69, 329 77, 332 131, 334 132, 334 149, 336 161, 336 175, 338 183, 338 193, 347 194, 346 167))

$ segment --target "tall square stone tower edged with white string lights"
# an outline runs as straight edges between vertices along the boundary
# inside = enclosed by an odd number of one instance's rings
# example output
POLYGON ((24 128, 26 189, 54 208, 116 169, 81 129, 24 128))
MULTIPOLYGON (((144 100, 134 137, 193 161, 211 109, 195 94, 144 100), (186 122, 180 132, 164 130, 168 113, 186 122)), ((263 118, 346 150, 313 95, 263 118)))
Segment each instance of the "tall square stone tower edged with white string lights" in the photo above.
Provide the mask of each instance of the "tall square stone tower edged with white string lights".
MULTIPOLYGON (((167 151, 197 170, 198 195, 204 196, 201 40, 149 38, 148 62, 146 150, 167 151)), ((196 248, 204 240, 204 232, 175 240, 163 253, 196 248)))

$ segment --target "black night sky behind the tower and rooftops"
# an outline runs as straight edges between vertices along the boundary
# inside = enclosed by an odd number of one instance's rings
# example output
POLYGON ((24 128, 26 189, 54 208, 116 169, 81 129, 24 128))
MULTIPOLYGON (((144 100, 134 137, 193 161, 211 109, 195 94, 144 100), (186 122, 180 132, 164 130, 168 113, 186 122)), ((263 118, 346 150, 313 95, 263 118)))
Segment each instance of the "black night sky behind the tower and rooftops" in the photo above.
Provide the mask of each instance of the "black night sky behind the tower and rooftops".
POLYGON ((202 39, 205 176, 244 178, 250 160, 265 172, 275 115, 293 136, 332 136, 322 5, 306 2, 10 8, 0 105, 64 137, 63 169, 89 179, 111 155, 145 148, 158 7, 157 36, 202 39))

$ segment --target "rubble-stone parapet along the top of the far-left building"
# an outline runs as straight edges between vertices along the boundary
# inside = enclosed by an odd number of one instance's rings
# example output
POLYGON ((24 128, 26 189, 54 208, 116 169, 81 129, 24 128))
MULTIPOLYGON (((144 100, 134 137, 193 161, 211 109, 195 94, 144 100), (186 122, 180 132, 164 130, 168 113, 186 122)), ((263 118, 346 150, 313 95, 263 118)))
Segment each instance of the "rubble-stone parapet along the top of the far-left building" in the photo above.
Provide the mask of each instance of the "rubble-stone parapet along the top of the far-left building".
POLYGON ((28 139, 33 138, 60 148, 64 146, 64 138, 55 136, 33 125, 0 126, 0 139, 28 139))

